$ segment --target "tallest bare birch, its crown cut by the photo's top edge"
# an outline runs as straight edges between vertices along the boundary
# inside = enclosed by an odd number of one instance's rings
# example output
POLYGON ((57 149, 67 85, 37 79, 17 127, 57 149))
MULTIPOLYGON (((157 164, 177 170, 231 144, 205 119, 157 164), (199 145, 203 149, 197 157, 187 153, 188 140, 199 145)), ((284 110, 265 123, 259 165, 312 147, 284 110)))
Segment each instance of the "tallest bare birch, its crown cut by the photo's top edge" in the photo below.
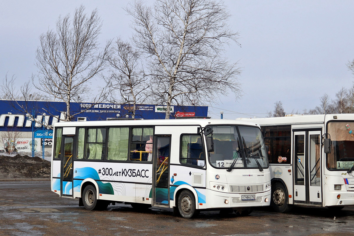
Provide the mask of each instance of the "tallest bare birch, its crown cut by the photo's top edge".
MULTIPOLYGON (((147 54, 151 94, 158 104, 208 103, 232 91, 241 94, 237 63, 224 57, 230 40, 230 17, 223 2, 214 0, 156 0, 154 7, 134 1, 126 11, 133 16, 133 41, 147 54)), ((239 45, 239 44, 238 44, 239 45)))

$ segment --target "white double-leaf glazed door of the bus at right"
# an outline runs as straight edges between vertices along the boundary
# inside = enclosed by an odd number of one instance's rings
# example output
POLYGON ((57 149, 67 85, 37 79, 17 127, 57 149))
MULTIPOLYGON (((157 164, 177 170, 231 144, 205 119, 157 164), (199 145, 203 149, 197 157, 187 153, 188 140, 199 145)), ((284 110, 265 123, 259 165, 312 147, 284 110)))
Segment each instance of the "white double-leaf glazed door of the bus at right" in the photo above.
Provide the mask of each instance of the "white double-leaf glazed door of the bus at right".
POLYGON ((321 131, 294 132, 294 203, 321 205, 321 131))

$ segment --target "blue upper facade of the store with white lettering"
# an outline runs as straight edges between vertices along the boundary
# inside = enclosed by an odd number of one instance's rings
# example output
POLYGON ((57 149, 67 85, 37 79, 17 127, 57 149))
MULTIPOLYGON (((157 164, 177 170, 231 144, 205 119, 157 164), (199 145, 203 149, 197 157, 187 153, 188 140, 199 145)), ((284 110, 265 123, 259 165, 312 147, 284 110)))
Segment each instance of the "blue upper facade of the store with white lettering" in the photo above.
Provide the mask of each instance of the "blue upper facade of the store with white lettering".
MULTIPOLYGON (((64 102, 47 102, 47 101, 24 101, 24 100, 0 100, 0 131, 9 131, 8 127, 16 127, 16 131, 32 132, 32 121, 26 119, 22 108, 32 111, 35 108, 35 119, 42 120, 42 113, 47 115, 44 120, 47 125, 54 125, 62 122, 64 119, 64 111, 66 104, 64 102), (18 104, 17 104, 18 103, 18 104), (50 115, 48 115, 50 114, 50 115)), ((132 104, 113 104, 113 103, 70 103, 72 114, 78 115, 73 117, 72 121, 78 121, 78 117, 85 118, 86 121, 107 120, 107 118, 124 117, 131 115, 132 104), (80 113, 81 112, 81 113, 80 113), (119 116, 117 116, 119 114, 119 116)), ((136 104, 135 118, 148 119, 165 119, 166 105, 136 104)), ((170 113, 174 110, 182 113, 195 114, 196 116, 207 116, 208 107, 202 106, 171 106, 170 113)), ((185 116, 185 115, 184 115, 185 116)), ((171 119, 175 119, 171 115, 171 119)), ((40 128, 41 125, 36 122, 35 127, 40 128)), ((51 134, 42 137, 38 132, 36 138, 52 138, 51 134)))

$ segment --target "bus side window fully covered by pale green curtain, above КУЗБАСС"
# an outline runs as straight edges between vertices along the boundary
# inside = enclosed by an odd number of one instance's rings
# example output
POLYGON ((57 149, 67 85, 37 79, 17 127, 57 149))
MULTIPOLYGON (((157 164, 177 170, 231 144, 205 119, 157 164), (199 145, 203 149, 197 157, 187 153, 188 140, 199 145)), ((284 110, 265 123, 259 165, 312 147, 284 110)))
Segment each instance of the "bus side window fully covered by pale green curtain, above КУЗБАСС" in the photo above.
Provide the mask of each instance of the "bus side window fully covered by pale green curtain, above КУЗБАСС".
POLYGON ((129 128, 109 128, 107 160, 128 159, 129 128))

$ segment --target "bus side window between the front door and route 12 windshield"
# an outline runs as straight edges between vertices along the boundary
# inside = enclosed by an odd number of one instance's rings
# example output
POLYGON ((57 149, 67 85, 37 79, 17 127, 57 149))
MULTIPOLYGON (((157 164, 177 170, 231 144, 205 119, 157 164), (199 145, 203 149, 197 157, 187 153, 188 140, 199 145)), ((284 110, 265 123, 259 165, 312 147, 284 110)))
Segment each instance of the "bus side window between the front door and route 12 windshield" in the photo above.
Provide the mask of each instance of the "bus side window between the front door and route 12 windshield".
POLYGON ((180 149, 179 161, 181 164, 205 166, 205 155, 199 134, 182 134, 180 149))

